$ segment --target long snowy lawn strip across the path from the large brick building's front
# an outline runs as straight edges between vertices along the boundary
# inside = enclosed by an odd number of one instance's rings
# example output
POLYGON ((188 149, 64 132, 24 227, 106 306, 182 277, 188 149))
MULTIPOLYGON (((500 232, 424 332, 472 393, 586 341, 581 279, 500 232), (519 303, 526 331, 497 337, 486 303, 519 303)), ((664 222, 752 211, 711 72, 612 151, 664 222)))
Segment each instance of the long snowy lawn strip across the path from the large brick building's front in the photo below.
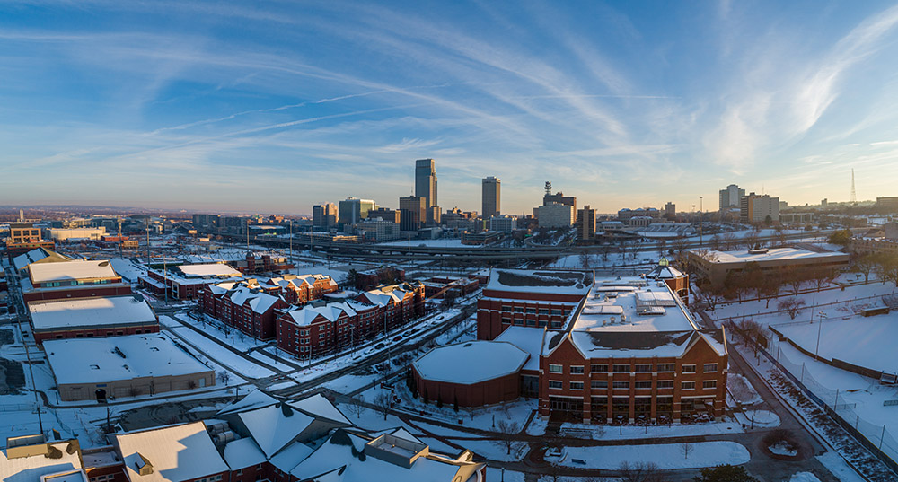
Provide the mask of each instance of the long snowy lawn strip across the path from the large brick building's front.
POLYGON ((620 469, 621 463, 651 462, 659 469, 698 469, 744 464, 751 455, 735 442, 659 443, 604 447, 565 447, 557 465, 588 469, 620 469), (690 447, 688 456, 684 447, 690 447))

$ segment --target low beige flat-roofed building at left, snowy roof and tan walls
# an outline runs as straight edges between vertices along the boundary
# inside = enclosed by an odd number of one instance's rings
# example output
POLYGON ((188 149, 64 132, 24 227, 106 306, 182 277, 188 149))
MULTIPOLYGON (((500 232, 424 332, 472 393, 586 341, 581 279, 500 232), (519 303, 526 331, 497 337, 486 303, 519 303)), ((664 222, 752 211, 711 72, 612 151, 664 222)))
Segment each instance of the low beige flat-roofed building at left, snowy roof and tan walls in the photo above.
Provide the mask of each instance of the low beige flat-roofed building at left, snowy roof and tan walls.
POLYGON ((213 369, 158 333, 48 340, 44 351, 64 401, 139 397, 216 384, 213 369))

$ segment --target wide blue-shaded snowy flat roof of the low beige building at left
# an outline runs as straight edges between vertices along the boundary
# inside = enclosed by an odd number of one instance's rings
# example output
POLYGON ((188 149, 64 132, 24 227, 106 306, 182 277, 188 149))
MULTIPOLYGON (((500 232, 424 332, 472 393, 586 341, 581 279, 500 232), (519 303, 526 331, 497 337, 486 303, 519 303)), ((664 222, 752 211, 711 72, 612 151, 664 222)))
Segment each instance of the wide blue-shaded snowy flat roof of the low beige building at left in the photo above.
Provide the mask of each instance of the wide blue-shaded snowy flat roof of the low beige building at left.
POLYGON ((60 384, 105 383, 211 370, 159 333, 47 340, 44 351, 60 384))

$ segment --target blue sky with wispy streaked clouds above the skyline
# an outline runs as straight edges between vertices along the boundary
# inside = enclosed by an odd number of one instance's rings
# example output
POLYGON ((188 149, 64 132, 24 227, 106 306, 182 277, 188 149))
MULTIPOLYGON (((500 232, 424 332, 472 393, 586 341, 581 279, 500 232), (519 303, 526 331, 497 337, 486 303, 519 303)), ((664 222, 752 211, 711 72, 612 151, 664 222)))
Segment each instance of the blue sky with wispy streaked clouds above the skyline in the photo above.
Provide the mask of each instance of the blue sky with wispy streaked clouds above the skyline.
POLYGON ((896 74, 890 2, 0 0, 0 205, 895 196, 896 74))

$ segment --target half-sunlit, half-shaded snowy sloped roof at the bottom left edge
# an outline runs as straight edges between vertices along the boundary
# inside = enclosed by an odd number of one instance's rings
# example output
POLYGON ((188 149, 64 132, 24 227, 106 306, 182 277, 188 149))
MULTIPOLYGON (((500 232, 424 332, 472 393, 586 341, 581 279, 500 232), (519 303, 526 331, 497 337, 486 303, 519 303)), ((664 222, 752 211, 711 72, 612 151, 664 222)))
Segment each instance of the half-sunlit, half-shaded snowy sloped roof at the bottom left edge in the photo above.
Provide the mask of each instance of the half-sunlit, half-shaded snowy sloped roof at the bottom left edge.
POLYGON ((182 482, 229 470, 202 422, 117 434, 131 482, 182 482), (148 463, 152 469, 140 475, 148 463))

